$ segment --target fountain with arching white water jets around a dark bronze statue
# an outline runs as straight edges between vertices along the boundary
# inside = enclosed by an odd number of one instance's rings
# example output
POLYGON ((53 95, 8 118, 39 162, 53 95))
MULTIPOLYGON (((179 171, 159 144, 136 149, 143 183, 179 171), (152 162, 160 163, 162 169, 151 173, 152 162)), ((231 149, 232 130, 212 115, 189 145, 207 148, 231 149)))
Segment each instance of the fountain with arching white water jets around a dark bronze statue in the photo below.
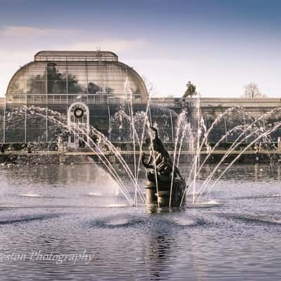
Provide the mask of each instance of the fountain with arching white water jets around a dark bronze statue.
MULTIPOLYGON (((128 95, 131 95, 131 91, 127 91, 128 95)), ((131 100, 130 100, 131 101, 131 100)), ((209 136, 213 129, 220 124, 220 122, 227 116, 235 115, 239 113, 242 115, 243 120, 247 119, 242 108, 231 107, 221 115, 214 119, 214 122, 209 124, 202 117, 200 112, 200 98, 197 100, 197 121, 196 124, 191 124, 187 118, 186 110, 183 110, 179 115, 176 124, 173 128, 173 142, 174 146, 170 150, 164 147, 164 141, 159 137, 158 124, 155 120, 152 120, 150 112, 150 99, 145 111, 133 111, 132 103, 124 103, 119 112, 115 114, 111 122, 116 122, 117 128, 122 128, 124 122, 127 124, 131 141, 133 141, 133 167, 129 166, 128 161, 124 158, 122 152, 117 148, 110 138, 107 138, 103 133, 98 131, 93 126, 86 128, 77 124, 67 124, 67 117, 61 115, 59 112, 55 112, 50 109, 41 107, 25 107, 24 110, 18 109, 10 112, 6 116, 6 124, 12 122, 15 117, 29 120, 34 118, 41 118, 42 120, 48 120, 50 123, 49 134, 56 136, 57 152, 61 154, 62 161, 65 163, 65 155, 67 154, 65 138, 68 138, 70 134, 74 134, 79 139, 79 142, 93 152, 93 155, 99 159, 99 162, 103 165, 103 169, 116 181, 119 194, 126 198, 129 205, 142 205, 146 204, 148 207, 157 207, 158 209, 173 209, 175 207, 185 207, 186 197, 189 199, 188 205, 192 207, 200 207, 200 204, 204 207, 211 207, 218 205, 215 201, 201 202, 204 198, 204 194, 209 194, 210 190, 214 188, 216 183, 221 177, 230 169, 230 167, 246 152, 252 145, 258 142, 266 144, 266 140, 270 138, 270 134, 280 128, 280 122, 272 122, 270 116, 275 114, 279 108, 275 108, 271 112, 267 112, 261 115, 258 119, 249 119, 249 122, 238 124, 233 128, 228 129, 226 133, 216 142, 214 146, 209 146, 209 136), (129 106, 128 113, 124 110, 125 106, 129 106), (265 120, 268 119, 268 125, 265 124, 265 120), (51 125, 52 124, 52 125, 51 125), (128 126, 129 124, 129 126, 128 126), (58 129, 59 128, 59 129, 58 129), (53 132, 51 132, 53 130, 53 132), (238 133, 235 136, 234 141, 230 147, 222 155, 214 169, 210 170, 208 174, 204 174, 205 178, 202 181, 200 173, 207 160, 216 152, 218 145, 223 143, 225 139, 232 136, 234 133, 238 133), (246 143, 245 147, 237 153, 234 159, 231 159, 228 166, 223 166, 227 157, 233 155, 233 152, 237 152, 237 148, 242 143, 246 143), (150 143, 150 155, 147 158, 147 152, 145 151, 145 143, 150 143), (105 150, 104 150, 105 148, 105 150), (203 148, 207 148, 206 151, 203 148), (235 150, 236 149, 236 150, 235 150), (183 151, 185 150, 185 151, 183 151), (185 152, 182 154, 182 152, 185 152), (188 154, 186 154, 188 152, 188 154), (204 158, 202 159, 202 152, 204 152, 204 158), (115 163, 110 160, 109 155, 115 158, 115 163), (180 165, 180 158, 183 155, 188 155, 185 159, 185 165, 189 167, 188 175, 182 176, 178 169, 180 165), (147 182, 141 183, 141 166, 143 164, 146 171, 147 182), (117 168, 120 164, 122 169, 117 168), (134 187, 134 192, 128 190, 128 183, 124 181, 121 175, 121 171, 128 176, 134 187), (220 172, 220 175, 216 175, 220 172), (216 175, 216 176, 215 176, 216 175), (214 177, 215 176, 215 177, 214 177), (185 181, 185 178, 187 179, 185 181), (214 180, 214 178, 216 178, 214 180), (191 186, 190 192, 187 192, 188 187, 191 186), (145 187, 145 197, 143 195, 145 187), (190 203, 191 202, 191 203, 190 203)), ((84 116, 83 110, 77 108, 74 112, 75 117, 80 120, 84 116)), ((39 122, 41 122, 39 120, 39 122)), ((166 125, 164 125, 166 126, 166 125)), ((163 124, 162 124, 163 128, 163 124)), ((162 136, 162 133, 161 133, 162 136)), ((122 136, 120 135, 122 138, 122 136)), ((44 136, 41 137, 44 139, 44 136)), ((163 134, 165 138, 165 133, 163 134)), ((42 148, 40 145, 40 139, 38 144, 29 143, 22 146, 22 151, 28 153, 27 159, 30 162, 32 155, 37 154, 42 148)), ((261 146, 261 145, 260 145, 261 146)), ((7 156, 5 145, 1 145, 1 153, 4 157, 8 157, 13 162, 16 155, 7 156)), ((49 145, 48 145, 49 150, 49 145)), ((235 153, 236 153, 235 152, 235 153)), ((2 157, 2 159, 4 158, 2 157)), ((38 156, 44 158, 44 156, 38 156)), ((39 161, 38 161, 39 162, 39 161)), ((185 170, 186 172, 186 170, 185 170)), ((131 184, 130 183, 130 184, 131 184)))

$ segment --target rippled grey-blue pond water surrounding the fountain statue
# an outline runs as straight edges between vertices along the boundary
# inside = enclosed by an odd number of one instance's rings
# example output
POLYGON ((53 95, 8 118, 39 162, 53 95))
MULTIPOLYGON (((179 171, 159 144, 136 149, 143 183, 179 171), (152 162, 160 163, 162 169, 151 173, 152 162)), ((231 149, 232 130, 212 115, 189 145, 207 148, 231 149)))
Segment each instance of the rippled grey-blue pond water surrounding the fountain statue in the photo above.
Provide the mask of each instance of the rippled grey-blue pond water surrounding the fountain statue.
POLYGON ((93 164, 2 166, 0 278, 280 280, 280 174, 235 166, 221 205, 147 214, 93 164))

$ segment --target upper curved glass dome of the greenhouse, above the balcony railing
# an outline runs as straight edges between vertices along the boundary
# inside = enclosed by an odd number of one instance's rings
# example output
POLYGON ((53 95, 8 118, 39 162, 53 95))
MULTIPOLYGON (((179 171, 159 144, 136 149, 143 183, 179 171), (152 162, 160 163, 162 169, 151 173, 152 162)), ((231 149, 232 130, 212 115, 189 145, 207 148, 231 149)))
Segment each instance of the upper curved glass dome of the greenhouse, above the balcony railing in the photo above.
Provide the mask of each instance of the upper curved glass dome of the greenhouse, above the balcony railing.
MULTIPOLYGON (((44 102, 49 95, 81 94, 107 94, 111 100, 132 94, 135 101, 143 100, 143 97, 147 100, 148 96, 143 79, 133 68, 120 63, 115 53, 41 51, 34 56, 34 62, 14 74, 8 85, 6 100, 44 102)), ((61 97, 58 99, 63 101, 61 97)))

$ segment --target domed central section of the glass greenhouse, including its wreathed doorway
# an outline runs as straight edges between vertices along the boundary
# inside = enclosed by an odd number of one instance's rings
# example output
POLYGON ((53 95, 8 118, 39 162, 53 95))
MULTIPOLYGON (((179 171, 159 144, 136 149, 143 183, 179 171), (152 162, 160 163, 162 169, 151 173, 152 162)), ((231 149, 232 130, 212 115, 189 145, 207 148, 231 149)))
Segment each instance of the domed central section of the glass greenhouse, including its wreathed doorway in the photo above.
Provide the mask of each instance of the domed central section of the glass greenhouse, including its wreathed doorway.
MULTIPOLYGON (((0 105, 0 142, 57 141, 50 115, 58 112, 67 125, 79 124, 86 130, 93 126, 112 142, 131 143, 130 121, 120 112, 133 116, 145 112, 147 103, 143 79, 115 53, 40 51, 8 84, 6 102, 0 105), (84 115, 81 119, 77 109, 84 115)), ((149 112, 160 136, 173 142, 176 113, 157 105, 149 112)), ((78 139, 70 136, 68 145, 76 147, 78 139)))

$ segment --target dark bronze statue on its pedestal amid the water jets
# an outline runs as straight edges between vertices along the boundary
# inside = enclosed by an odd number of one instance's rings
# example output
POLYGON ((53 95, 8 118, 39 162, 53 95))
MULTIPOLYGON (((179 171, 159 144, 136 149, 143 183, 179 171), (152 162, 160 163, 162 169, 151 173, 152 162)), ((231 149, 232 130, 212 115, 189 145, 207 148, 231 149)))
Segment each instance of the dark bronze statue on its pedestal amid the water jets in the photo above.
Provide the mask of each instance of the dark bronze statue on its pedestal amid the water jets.
POLYGON ((181 199, 184 196, 185 179, 181 176, 178 167, 174 165, 169 152, 164 148, 162 141, 158 136, 158 131, 154 131, 154 137, 150 144, 150 156, 148 162, 145 162, 145 153, 141 156, 141 162, 145 169, 151 169, 147 172, 148 183, 146 184, 146 202, 147 204, 156 204, 160 207, 180 207, 181 199), (173 181, 173 183, 172 183, 173 181), (171 190, 171 188, 173 188, 171 190), (170 197, 171 199, 170 200, 170 197))

